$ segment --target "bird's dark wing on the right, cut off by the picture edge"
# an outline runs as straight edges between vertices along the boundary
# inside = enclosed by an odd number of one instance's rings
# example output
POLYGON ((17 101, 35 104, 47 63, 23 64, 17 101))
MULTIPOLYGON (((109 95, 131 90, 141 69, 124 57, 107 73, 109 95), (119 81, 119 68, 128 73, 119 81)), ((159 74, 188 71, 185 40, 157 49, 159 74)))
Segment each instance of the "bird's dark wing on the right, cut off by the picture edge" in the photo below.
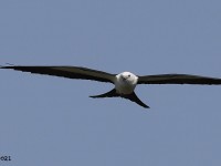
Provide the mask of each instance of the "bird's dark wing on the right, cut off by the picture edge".
POLYGON ((189 74, 160 74, 138 76, 138 84, 204 84, 219 85, 221 79, 189 74))

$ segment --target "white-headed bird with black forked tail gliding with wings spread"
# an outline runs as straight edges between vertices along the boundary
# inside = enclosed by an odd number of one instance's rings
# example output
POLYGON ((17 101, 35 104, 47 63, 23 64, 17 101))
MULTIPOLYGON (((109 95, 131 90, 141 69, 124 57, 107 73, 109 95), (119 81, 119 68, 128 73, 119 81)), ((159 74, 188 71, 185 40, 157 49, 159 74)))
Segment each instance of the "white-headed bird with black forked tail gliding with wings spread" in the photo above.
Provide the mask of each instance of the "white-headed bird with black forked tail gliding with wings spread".
POLYGON ((36 74, 62 76, 67 79, 82 79, 99 82, 113 83, 115 87, 109 92, 90 97, 123 97, 137 103, 138 105, 149 108, 141 102, 135 93, 138 84, 202 84, 202 85, 220 85, 221 79, 207 77, 190 74, 158 74, 158 75, 135 75, 130 72, 119 74, 110 74, 103 71, 92 70, 82 66, 22 66, 9 65, 0 66, 0 69, 12 69, 15 71, 31 72, 36 74))

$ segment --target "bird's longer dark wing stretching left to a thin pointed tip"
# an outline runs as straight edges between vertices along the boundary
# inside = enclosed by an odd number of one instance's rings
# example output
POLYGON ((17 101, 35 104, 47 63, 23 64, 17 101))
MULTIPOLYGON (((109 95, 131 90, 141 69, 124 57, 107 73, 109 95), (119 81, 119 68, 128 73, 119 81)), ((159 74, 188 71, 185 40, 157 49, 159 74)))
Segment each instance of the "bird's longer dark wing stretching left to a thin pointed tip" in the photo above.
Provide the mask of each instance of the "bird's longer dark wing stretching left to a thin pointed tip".
POLYGON ((114 83, 115 74, 96 71, 82 66, 1 66, 0 69, 12 69, 15 71, 31 72, 45 75, 62 76, 69 79, 93 80, 114 83))

